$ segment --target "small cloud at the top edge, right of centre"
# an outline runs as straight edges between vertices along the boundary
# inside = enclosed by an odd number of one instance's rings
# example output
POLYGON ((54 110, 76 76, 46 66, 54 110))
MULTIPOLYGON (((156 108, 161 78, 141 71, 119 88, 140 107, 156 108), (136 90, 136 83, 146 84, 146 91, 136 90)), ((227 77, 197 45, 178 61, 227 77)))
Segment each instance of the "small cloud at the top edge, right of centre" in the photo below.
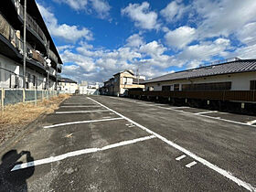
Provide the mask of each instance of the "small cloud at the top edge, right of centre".
POLYGON ((187 12, 187 9, 188 6, 172 1, 160 11, 160 14, 165 17, 167 22, 174 22, 180 19, 187 12))

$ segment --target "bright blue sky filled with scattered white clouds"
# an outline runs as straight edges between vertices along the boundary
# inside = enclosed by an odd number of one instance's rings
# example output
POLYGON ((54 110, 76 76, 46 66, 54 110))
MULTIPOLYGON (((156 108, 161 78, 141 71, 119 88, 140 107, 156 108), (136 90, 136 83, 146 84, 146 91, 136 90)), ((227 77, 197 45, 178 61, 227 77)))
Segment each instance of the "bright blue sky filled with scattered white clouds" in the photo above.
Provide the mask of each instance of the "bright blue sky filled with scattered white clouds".
POLYGON ((217 59, 256 58, 255 0, 37 0, 62 76, 102 82, 123 69, 147 79, 217 59))

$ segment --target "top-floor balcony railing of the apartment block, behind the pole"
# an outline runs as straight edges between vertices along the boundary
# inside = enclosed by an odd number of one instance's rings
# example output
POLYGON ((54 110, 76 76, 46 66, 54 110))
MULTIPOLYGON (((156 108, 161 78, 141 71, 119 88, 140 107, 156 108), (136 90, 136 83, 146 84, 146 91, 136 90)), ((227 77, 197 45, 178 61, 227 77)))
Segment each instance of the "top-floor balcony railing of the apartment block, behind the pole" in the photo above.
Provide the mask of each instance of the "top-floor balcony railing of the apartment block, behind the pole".
MULTIPOLYGON (((23 19, 24 18, 24 8, 23 6, 18 2, 18 0, 12 0, 14 4, 16 5, 16 12, 17 14, 23 19)), ((37 35, 40 37, 40 39, 44 42, 45 47, 47 48, 48 40, 45 36, 43 30, 37 25, 37 22, 32 18, 32 16, 29 16, 27 14, 27 27, 31 28, 37 35)))

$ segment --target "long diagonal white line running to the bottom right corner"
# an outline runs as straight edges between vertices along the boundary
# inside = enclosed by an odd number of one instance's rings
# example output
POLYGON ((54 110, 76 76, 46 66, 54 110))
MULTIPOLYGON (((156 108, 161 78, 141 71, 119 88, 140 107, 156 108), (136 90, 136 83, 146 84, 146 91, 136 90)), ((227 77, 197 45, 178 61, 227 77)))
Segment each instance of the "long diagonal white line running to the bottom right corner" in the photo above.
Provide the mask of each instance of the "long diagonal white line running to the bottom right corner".
MULTIPOLYGON (((88 98, 90 99, 91 101, 95 101, 91 98, 88 98)), ((136 123, 134 122, 133 120, 129 119, 128 117, 125 117, 123 116, 123 114, 119 113, 119 112, 115 112, 114 110, 112 110, 111 108, 101 104, 101 102, 99 101, 95 101, 96 103, 100 104, 102 107, 116 113, 117 115, 123 117, 123 119, 125 119, 126 121, 130 122, 130 123, 133 123, 135 124, 136 126, 140 127, 141 129, 143 129, 144 131, 146 131, 147 133, 151 133, 153 135, 155 135, 155 137, 157 137, 158 139, 162 140, 163 142, 165 142, 166 144, 169 144, 171 146, 173 146, 174 148, 176 148, 177 150, 181 151, 182 153, 192 157, 193 159, 195 159, 197 162, 200 162, 201 164, 203 165, 206 165, 208 166, 208 168, 218 172, 220 175, 222 176, 225 176, 227 178, 229 178, 231 181, 233 181, 234 183, 238 184, 240 187, 244 187, 250 191, 256 191, 256 187, 252 187, 251 184, 245 182, 245 181, 242 181, 240 178, 236 177, 236 176, 233 176, 229 171, 226 171, 222 168, 220 168, 218 165, 213 165, 211 164, 210 162, 208 162, 208 160, 200 157, 200 156, 197 156, 195 154, 193 154, 192 152, 188 151, 186 148, 178 145, 178 144, 175 144, 174 142, 172 141, 169 141, 167 140, 165 137, 163 137, 162 135, 158 134, 158 133, 155 133, 153 131, 151 131, 150 129, 144 127, 143 125, 139 124, 139 123, 136 123)), ((178 112, 178 111, 177 111, 178 112)), ((193 113, 192 113, 193 114, 193 113)))

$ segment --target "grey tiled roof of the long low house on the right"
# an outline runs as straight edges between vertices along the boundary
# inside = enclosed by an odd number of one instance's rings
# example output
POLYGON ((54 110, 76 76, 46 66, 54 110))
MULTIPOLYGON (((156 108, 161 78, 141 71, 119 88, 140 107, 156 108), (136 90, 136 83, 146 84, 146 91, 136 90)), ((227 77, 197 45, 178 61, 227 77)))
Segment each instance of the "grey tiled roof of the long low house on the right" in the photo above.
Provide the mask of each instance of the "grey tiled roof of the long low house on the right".
POLYGON ((145 80, 144 83, 158 82, 165 80, 184 80, 213 75, 248 72, 256 70, 256 59, 240 59, 232 62, 211 65, 197 69, 187 69, 175 73, 169 73, 152 80, 145 80))

